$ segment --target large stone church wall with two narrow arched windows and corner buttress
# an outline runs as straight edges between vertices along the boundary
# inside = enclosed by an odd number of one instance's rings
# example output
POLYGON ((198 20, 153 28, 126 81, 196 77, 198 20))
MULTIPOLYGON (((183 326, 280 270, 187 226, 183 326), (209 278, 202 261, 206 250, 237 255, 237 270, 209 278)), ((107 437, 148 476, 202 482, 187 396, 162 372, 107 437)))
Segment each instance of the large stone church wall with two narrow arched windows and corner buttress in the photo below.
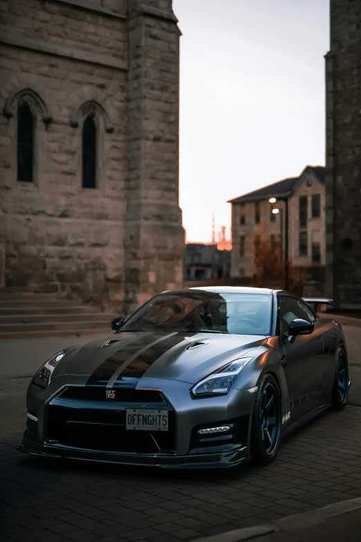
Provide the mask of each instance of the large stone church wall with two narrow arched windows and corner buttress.
POLYGON ((172 0, 2 0, 0 12, 0 286, 126 313, 178 288, 172 0))

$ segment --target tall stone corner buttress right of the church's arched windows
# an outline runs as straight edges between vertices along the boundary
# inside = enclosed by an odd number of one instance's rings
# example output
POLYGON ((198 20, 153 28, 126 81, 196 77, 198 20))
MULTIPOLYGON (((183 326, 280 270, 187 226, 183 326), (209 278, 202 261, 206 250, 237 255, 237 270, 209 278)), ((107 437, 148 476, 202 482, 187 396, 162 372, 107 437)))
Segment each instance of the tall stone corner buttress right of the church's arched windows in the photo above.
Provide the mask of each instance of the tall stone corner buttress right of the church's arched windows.
POLYGON ((125 295, 183 283, 185 234, 178 195, 179 36, 172 1, 130 1, 129 178, 125 295))

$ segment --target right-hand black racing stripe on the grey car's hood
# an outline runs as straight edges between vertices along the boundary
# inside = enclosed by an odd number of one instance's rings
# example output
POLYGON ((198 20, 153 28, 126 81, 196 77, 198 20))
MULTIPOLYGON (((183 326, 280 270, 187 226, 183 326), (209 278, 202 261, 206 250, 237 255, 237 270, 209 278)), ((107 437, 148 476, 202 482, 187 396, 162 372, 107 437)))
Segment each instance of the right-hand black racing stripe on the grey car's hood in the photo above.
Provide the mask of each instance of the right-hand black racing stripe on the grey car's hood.
POLYGON ((154 346, 148 348, 148 350, 140 354, 138 357, 136 357, 136 359, 133 359, 129 365, 124 366, 124 369, 121 371, 117 380, 122 380, 122 377, 142 377, 145 375, 149 367, 154 364, 161 355, 165 354, 171 348, 184 341, 185 335, 187 335, 187 337, 191 337, 194 334, 177 333, 177 335, 172 335, 172 337, 167 337, 167 339, 164 339, 164 341, 154 344, 154 346))

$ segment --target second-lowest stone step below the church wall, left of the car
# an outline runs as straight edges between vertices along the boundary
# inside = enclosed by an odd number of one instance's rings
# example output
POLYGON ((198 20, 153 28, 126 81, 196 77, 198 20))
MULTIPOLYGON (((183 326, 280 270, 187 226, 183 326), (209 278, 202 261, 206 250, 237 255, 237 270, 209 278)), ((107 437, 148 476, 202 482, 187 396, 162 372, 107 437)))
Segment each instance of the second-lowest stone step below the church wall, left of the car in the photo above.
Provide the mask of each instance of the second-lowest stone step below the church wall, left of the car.
MULTIPOLYGON (((76 322, 77 324, 82 323, 82 326, 84 326, 84 323, 89 323, 91 321, 102 321, 102 322, 108 322, 109 328, 111 325, 111 320, 113 320, 115 316, 113 314, 108 314, 107 312, 82 312, 78 315, 73 314, 63 314, 59 315, 57 313, 50 313, 48 315, 40 314, 40 315, 28 315, 28 314, 22 314, 22 315, 0 315, 0 328, 3 324, 39 324, 41 322, 44 322, 47 324, 49 321, 51 322, 76 322)), ((86 325, 84 326, 86 327, 86 325)))

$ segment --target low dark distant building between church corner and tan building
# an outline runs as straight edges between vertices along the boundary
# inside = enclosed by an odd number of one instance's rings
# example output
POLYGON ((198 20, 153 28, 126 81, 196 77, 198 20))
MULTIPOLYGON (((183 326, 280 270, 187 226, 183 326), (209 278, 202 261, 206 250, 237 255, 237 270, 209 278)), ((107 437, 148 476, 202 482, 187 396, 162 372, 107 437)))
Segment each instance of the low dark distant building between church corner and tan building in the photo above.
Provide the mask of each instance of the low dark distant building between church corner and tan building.
POLYGON ((186 281, 230 277, 230 251, 219 250, 216 243, 187 243, 185 260, 186 281))

